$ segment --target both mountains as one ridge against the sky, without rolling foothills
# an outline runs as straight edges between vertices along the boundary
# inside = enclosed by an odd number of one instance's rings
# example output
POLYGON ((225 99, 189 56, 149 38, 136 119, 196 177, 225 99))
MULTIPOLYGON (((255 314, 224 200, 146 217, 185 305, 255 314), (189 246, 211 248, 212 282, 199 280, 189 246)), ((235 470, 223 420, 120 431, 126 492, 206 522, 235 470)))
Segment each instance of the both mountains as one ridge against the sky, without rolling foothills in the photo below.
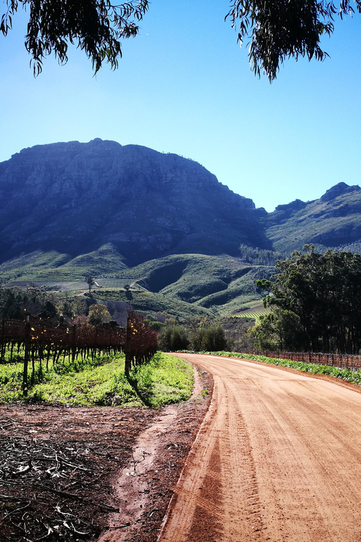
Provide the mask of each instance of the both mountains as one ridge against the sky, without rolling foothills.
POLYGON ((35 145, 0 163, 0 276, 121 272, 172 254, 289 254, 361 239, 361 188, 255 208, 199 163, 96 138, 35 145), (28 262, 28 263, 27 263, 28 262))

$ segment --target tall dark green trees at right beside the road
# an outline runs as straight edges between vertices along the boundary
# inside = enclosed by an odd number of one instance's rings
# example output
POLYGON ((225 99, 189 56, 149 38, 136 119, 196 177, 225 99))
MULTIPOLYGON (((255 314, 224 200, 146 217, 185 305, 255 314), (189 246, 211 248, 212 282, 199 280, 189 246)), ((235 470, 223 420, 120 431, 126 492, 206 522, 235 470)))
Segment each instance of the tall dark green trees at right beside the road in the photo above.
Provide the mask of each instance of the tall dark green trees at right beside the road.
POLYGON ((278 274, 273 281, 256 281, 259 288, 271 293, 265 297, 265 305, 299 317, 304 350, 358 353, 361 256, 334 250, 318 254, 313 245, 303 248, 305 254, 293 252, 291 258, 276 264, 278 274))

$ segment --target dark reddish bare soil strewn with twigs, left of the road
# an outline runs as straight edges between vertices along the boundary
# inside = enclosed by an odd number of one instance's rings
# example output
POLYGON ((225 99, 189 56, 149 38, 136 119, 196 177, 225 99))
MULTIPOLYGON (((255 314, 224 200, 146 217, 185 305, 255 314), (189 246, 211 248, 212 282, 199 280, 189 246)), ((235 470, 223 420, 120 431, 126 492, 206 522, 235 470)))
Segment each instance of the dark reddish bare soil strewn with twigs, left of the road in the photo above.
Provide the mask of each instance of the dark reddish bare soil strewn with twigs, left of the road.
POLYGON ((159 410, 0 405, 0 542, 156 541, 210 403, 195 375, 159 410))

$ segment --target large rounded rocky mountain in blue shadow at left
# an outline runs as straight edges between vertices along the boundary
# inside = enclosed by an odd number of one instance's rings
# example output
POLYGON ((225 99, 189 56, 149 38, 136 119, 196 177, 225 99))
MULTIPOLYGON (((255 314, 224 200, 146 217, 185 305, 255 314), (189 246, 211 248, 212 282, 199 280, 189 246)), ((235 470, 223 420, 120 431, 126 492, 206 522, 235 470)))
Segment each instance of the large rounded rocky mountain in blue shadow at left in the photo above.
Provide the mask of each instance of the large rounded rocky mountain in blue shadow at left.
POLYGON ((63 264, 102 247, 118 268, 167 254, 269 247, 267 216, 176 154, 95 139, 37 145, 0 163, 1 262, 36 251, 63 264))

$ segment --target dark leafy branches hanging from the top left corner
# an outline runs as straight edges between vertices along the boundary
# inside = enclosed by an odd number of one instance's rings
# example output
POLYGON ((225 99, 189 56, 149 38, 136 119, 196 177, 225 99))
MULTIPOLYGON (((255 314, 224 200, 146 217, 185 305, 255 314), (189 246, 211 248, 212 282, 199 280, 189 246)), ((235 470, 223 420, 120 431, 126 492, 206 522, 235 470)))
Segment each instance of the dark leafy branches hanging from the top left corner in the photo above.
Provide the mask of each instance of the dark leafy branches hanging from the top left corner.
POLYGON ((115 69, 121 57, 121 39, 137 35, 148 9, 148 0, 114 4, 110 0, 7 0, 0 32, 7 35, 12 16, 21 6, 29 13, 25 47, 31 54, 35 75, 42 71, 46 56, 55 54, 67 63, 69 44, 76 44, 92 60, 96 73, 103 63, 115 69))

